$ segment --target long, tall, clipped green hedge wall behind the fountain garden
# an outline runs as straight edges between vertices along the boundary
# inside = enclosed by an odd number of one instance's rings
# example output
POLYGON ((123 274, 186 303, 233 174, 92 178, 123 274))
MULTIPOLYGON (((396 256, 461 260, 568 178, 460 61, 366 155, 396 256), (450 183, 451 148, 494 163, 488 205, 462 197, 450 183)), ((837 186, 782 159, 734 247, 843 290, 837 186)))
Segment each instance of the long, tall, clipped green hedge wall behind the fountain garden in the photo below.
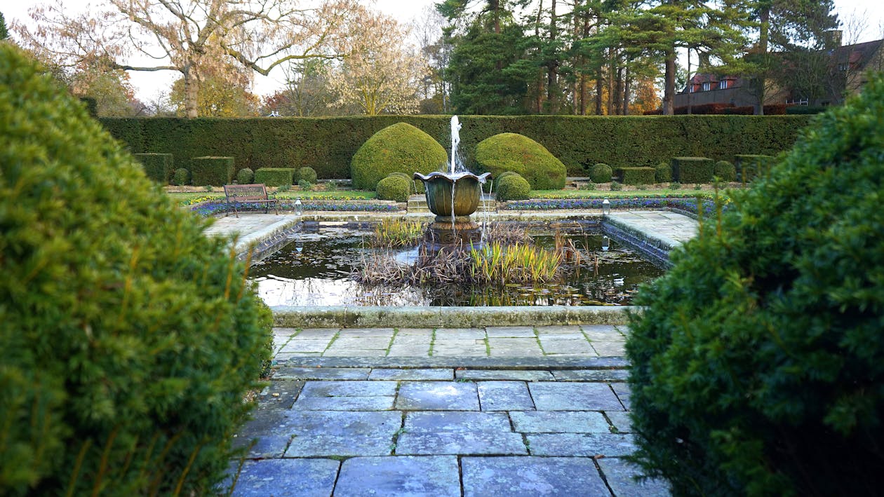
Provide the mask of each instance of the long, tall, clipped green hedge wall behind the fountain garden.
MULTIPOLYGON (((133 153, 168 153, 176 167, 191 157, 235 157, 237 169, 311 167, 321 178, 349 177, 356 150, 374 133, 408 123, 450 147, 448 116, 376 117, 103 117, 104 127, 133 153)), ((807 116, 465 116, 461 154, 475 168, 476 144, 501 132, 534 139, 585 176, 585 165, 654 166, 677 156, 735 160, 792 147, 807 116)), ((235 174, 235 171, 234 171, 235 174)))

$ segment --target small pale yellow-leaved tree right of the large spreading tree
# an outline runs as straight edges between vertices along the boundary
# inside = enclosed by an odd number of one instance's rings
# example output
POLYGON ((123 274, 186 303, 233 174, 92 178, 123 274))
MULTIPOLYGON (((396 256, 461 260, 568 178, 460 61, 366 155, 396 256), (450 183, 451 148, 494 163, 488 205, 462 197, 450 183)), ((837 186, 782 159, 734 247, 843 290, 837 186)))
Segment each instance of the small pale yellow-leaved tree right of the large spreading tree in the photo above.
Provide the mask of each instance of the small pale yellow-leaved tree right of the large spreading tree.
POLYGON ((403 42, 408 28, 361 7, 347 31, 343 60, 330 73, 331 91, 338 97, 333 105, 356 105, 368 116, 417 112, 428 71, 417 49, 403 42))

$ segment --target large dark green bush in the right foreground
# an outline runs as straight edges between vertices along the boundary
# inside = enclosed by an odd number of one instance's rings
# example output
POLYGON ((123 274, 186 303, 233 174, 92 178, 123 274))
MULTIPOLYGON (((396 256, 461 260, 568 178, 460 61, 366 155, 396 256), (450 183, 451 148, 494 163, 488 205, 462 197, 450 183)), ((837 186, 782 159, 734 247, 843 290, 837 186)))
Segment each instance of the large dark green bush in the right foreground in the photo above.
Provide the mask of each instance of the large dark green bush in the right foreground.
POLYGON ((880 493, 882 116, 879 77, 636 298, 637 458, 674 494, 880 493))

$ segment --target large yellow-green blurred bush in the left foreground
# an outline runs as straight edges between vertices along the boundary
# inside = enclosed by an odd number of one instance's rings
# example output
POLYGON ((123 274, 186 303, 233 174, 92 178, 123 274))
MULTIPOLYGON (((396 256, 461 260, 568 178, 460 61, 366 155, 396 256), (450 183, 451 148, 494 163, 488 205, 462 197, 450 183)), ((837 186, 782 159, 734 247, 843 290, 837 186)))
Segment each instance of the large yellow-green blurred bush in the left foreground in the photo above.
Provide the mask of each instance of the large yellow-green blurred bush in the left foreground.
POLYGON ((0 494, 206 495, 271 314, 229 241, 0 43, 0 494))

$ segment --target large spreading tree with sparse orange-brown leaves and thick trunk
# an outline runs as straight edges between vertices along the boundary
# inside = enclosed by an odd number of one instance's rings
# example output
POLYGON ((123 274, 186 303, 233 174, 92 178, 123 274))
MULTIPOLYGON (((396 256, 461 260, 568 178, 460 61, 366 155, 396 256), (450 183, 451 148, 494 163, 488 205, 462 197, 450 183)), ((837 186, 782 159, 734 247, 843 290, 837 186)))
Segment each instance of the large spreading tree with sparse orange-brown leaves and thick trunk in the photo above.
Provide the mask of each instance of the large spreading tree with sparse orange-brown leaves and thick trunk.
POLYGON ((199 114, 200 83, 224 78, 225 68, 267 75, 279 64, 337 56, 341 27, 356 11, 354 0, 323 0, 302 6, 291 0, 104 0, 95 13, 69 15, 61 0, 35 7, 32 33, 16 25, 24 45, 59 64, 89 57, 113 69, 175 71, 184 85, 187 117, 199 114), (133 65, 134 54, 161 61, 133 65))

